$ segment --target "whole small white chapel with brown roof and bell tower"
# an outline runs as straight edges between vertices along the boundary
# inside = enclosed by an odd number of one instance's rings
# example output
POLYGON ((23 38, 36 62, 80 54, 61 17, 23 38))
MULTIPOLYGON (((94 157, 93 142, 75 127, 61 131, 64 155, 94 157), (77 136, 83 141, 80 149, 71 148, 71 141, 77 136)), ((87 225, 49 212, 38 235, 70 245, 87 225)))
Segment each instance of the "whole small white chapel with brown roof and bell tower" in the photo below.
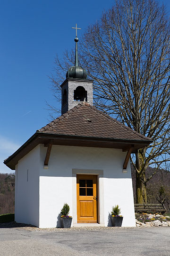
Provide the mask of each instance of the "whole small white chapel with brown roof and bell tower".
POLYGON ((61 84, 61 116, 4 161, 16 175, 15 220, 58 228, 68 203, 72 226, 111 226, 118 204, 122 226, 135 227, 129 157, 151 139, 93 107, 93 81, 78 65, 75 42, 75 66, 61 84))

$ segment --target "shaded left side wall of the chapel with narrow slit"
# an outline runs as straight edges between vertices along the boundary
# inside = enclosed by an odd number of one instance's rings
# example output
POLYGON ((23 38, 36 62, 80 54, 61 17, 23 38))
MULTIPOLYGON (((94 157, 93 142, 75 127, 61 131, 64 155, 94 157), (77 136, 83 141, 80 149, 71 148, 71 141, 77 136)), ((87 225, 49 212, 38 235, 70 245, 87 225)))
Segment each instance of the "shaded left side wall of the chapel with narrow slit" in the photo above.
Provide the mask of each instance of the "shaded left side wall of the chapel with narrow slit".
POLYGON ((36 146, 18 161, 15 190, 15 220, 37 227, 39 226, 39 166, 40 146, 36 146))

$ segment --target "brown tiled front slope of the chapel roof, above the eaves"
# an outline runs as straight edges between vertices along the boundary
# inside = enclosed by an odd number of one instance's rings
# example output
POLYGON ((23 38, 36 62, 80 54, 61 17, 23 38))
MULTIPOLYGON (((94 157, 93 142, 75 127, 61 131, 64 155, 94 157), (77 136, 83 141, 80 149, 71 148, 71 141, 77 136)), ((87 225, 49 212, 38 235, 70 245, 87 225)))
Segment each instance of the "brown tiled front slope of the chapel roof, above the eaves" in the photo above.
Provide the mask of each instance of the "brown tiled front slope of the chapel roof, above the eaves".
POLYGON ((116 119, 97 110, 89 103, 81 102, 76 107, 37 130, 41 133, 85 137, 103 137, 128 140, 151 140, 116 119))

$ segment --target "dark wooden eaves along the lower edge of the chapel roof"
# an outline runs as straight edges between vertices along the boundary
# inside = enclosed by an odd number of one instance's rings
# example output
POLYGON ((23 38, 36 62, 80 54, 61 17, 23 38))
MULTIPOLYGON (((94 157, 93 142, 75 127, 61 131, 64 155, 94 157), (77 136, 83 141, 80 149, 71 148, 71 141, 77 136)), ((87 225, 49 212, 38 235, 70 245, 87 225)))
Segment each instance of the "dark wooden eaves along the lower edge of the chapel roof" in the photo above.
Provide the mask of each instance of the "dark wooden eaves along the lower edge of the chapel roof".
POLYGON ((35 146, 39 144, 46 146, 49 142, 52 145, 119 148, 124 151, 127 151, 129 147, 133 147, 133 151, 135 152, 139 148, 148 146, 153 141, 35 132, 16 152, 4 160, 4 164, 11 170, 15 170, 18 161, 33 150, 35 146))

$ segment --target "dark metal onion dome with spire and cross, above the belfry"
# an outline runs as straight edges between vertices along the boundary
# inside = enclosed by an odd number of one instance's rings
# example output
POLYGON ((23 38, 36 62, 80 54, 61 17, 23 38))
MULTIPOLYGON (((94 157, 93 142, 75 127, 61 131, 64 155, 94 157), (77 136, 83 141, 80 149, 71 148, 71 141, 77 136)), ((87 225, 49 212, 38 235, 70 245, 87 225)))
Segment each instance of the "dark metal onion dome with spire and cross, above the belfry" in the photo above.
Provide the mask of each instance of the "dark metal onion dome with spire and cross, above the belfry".
POLYGON ((74 39, 76 42, 76 54, 75 54, 75 65, 70 67, 68 69, 68 72, 66 74, 66 78, 78 78, 78 79, 86 79, 87 78, 87 72, 84 68, 78 65, 78 50, 77 50, 77 42, 78 42, 78 37, 77 37, 77 29, 81 29, 79 27, 72 27, 76 29, 76 38, 74 39))

